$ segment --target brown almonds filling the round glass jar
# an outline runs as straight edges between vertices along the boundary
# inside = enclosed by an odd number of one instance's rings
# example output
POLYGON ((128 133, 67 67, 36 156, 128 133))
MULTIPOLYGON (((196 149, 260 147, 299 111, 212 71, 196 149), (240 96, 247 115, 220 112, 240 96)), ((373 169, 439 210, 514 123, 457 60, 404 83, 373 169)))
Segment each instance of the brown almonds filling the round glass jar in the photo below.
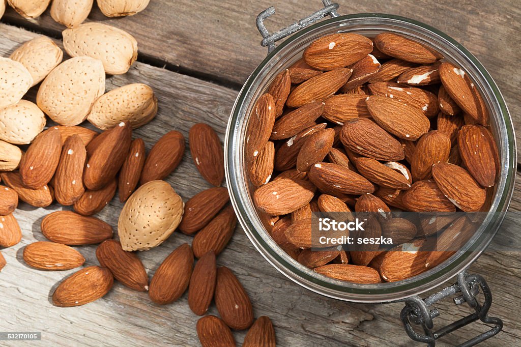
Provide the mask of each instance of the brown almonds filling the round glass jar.
POLYGON ((393 33, 336 33, 309 44, 256 101, 244 151, 272 239, 319 274, 358 283, 402 280, 448 259, 454 252, 421 250, 472 236, 479 219, 470 213, 488 211, 500 168, 468 73, 393 33), (370 236, 400 244, 311 251, 313 212, 353 210, 387 214, 370 236), (412 251, 393 252, 402 250, 412 251))

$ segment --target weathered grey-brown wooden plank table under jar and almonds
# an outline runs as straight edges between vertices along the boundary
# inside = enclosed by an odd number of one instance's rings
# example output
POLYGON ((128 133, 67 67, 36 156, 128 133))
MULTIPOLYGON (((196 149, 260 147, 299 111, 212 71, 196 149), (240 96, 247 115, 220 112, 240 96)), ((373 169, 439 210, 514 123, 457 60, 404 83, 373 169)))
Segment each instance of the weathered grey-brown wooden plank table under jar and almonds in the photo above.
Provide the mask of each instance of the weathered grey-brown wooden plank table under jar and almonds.
MULTIPOLYGON (((449 34, 489 69, 506 98, 515 125, 521 124, 518 67, 521 7, 518 0, 464 0, 458 2, 457 7, 449 0, 339 0, 339 3, 340 14, 398 14, 426 22, 449 34)), ((125 29, 139 42, 139 62, 126 75, 109 77, 107 89, 131 82, 147 83, 154 88, 159 113, 153 122, 134 133, 144 139, 147 150, 168 130, 179 130, 187 136, 189 128, 200 121, 212 125, 221 140, 224 139, 235 96, 265 56, 266 49, 259 46, 261 36, 255 29, 255 17, 270 5, 276 6, 277 13, 267 21, 267 26, 276 31, 312 13, 321 4, 317 0, 163 0, 152 1, 137 16, 120 19, 108 19, 97 8, 93 9, 89 20, 125 29)), ((1 21, 2 56, 10 54, 36 33, 59 41, 63 30, 48 11, 42 17, 28 21, 8 9, 1 21)), ((521 181, 519 174, 517 179, 521 181)), ((208 187, 196 174, 188 152, 182 164, 168 177, 168 182, 185 201, 208 187)), ((121 207, 119 201, 114 200, 99 217, 116 226, 121 207)), ((33 208, 21 204, 16 212, 23 240, 2 250, 8 264, 0 276, 0 331, 41 331, 39 345, 49 346, 199 345, 195 334, 199 317, 188 308, 186 295, 176 303, 158 306, 152 304, 145 293, 116 283, 102 300, 76 308, 54 307, 50 295, 57 283, 73 270, 36 271, 24 264, 21 254, 25 245, 44 239, 40 221, 56 209, 59 208, 33 208)), ((521 211, 519 185, 510 210, 521 211)), ((502 232, 514 237, 518 231, 519 225, 515 221, 502 227, 502 232)), ((190 241, 190 237, 175 233, 161 246, 140 253, 149 276, 175 247, 190 241)), ((94 246, 81 247, 86 265, 97 264, 94 251, 94 246)), ((255 315, 271 317, 281 346, 414 345, 399 320, 403 304, 349 304, 309 292, 272 268, 240 228, 227 250, 219 256, 218 263, 230 267, 238 275, 252 298, 255 315)), ((521 345, 519 253, 485 252, 470 271, 487 278, 494 294, 490 314, 501 317, 505 323, 504 331, 483 345, 521 345)), ((468 308, 456 307, 451 302, 440 303, 437 307, 441 312, 440 318, 435 320, 438 324, 446 324, 469 313, 468 308)), ((215 307, 209 313, 216 314, 215 307)), ((461 343, 485 329, 475 323, 443 338, 440 344, 461 343)), ((244 334, 244 331, 235 332, 238 342, 243 340, 244 334)))

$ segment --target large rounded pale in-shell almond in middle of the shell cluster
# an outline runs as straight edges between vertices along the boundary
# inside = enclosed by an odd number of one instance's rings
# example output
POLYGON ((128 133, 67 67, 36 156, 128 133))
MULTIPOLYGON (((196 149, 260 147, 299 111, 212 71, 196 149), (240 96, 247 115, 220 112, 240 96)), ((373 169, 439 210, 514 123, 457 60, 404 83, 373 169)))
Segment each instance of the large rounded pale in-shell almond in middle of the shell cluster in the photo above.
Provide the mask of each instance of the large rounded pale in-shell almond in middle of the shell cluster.
POLYGON ((65 60, 43 80, 36 103, 60 125, 78 125, 89 115, 92 104, 105 93, 101 60, 76 57, 65 60))

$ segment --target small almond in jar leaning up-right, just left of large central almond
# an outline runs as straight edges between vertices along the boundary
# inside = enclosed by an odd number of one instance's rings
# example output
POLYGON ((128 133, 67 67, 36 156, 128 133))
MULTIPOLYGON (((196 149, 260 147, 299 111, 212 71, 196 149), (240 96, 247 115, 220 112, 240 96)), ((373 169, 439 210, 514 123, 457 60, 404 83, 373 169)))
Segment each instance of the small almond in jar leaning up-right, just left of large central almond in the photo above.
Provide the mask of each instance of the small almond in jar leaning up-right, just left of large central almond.
POLYGON ((322 162, 331 150, 334 140, 333 129, 318 130, 306 137, 296 158, 297 170, 309 171, 315 163, 322 162))

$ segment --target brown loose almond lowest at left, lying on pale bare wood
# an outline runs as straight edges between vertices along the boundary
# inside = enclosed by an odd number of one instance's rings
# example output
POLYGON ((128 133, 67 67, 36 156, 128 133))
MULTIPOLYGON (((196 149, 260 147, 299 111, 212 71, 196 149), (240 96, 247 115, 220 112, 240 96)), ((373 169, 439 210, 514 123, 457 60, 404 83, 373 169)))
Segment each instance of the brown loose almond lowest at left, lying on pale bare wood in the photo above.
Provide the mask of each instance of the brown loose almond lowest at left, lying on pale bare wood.
POLYGON ((89 266, 67 277, 53 294, 53 304, 73 307, 88 304, 102 298, 114 284, 114 277, 107 268, 89 266))

